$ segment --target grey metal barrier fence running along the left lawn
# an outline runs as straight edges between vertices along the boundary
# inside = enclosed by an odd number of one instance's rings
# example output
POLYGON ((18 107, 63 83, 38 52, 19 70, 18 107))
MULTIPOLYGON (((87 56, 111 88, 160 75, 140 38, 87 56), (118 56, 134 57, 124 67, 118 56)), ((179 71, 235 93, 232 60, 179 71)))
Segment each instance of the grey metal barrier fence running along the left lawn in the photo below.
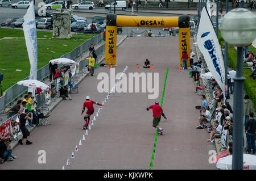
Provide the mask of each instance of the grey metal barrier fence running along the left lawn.
MULTIPOLYGON (((89 39, 87 41, 85 41, 84 43, 82 43, 81 45, 79 45, 79 47, 73 49, 71 52, 68 52, 66 54, 64 54, 63 56, 61 56, 61 58, 69 58, 71 60, 74 60, 75 58, 77 58, 80 54, 82 54, 83 52, 85 52, 86 50, 89 49, 91 44, 98 44, 101 40, 103 39, 103 36, 101 35, 97 35, 92 37, 92 39, 89 39)), ((99 52, 100 50, 98 50, 99 52)), ((97 53, 97 50, 96 50, 97 53)), ((82 64, 81 67, 84 67, 85 63, 82 64)), ((58 64, 58 68, 61 65, 58 64)), ((43 66, 42 68, 40 68, 37 71, 37 76, 38 76, 38 80, 42 80, 46 77, 49 76, 49 65, 43 66)), ((24 78, 23 80, 29 79, 29 77, 24 78)), ((27 91, 27 87, 24 87, 22 85, 13 85, 11 86, 9 89, 7 89, 4 92, 4 95, 2 97, 0 97, 0 113, 3 112, 3 110, 5 110, 6 106, 8 104, 11 104, 14 100, 16 100, 19 96, 21 96, 23 94, 23 92, 27 91)))

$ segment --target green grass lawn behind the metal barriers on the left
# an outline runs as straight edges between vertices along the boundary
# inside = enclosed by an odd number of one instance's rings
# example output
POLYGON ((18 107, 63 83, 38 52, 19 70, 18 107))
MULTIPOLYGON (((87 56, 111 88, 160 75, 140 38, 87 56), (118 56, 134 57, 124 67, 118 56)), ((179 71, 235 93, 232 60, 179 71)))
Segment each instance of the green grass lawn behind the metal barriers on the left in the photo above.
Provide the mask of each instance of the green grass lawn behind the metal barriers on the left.
MULTIPOLYGON (((37 31, 37 35, 38 38, 52 37, 52 32, 37 31)), ((47 65, 51 57, 59 58, 96 35, 79 34, 73 35, 71 39, 38 39, 38 69, 47 65)), ((2 37, 24 37, 24 33, 23 30, 0 28, 2 37)), ((24 39, 0 40, 0 73, 3 73, 3 91, 30 75, 30 61, 24 39)))

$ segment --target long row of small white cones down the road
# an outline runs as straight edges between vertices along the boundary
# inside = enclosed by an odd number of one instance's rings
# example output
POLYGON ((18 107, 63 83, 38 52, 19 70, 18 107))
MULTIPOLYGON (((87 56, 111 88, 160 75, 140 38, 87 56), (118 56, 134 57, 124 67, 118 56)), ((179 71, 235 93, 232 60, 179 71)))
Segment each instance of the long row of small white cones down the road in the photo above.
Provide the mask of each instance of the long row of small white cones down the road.
MULTIPOLYGON (((127 70, 127 68, 128 68, 128 66, 126 65, 125 69, 123 69, 123 73, 125 73, 125 71, 127 70)), ((110 92, 108 93, 108 95, 106 95, 105 103, 106 103, 106 100, 109 99, 109 95, 114 91, 115 87, 117 86, 117 84, 119 83, 119 81, 121 80, 121 78, 123 77, 123 73, 120 75, 120 77, 118 78, 117 82, 115 82, 114 86, 112 87, 112 89, 110 90, 110 92)), ((102 105, 104 105, 104 101, 102 102, 102 105)), ((100 108, 98 108, 98 111, 97 111, 97 113, 96 113, 96 117, 98 117, 98 113, 101 112, 101 109, 102 109, 102 106, 101 106, 100 108)), ((92 129, 92 128, 90 127, 90 125, 94 125, 94 124, 93 124, 93 121, 96 121, 96 117, 94 116, 94 117, 93 117, 93 120, 92 120, 92 123, 89 124, 89 127, 88 127, 89 130, 92 129)), ((88 135, 88 134, 89 134, 89 133, 88 133, 88 129, 86 129, 85 135, 88 135)), ((85 140, 84 134, 82 135, 82 140, 85 140)), ((79 146, 82 146, 81 140, 79 141, 79 146)), ((75 151, 79 151, 77 145, 76 145, 75 151)), ((75 158, 74 152, 72 152, 71 158, 75 158)), ((67 159, 67 164, 66 164, 66 165, 67 165, 67 166, 70 165, 69 159, 67 159)), ((62 167, 62 170, 65 170, 64 166, 62 167)))

